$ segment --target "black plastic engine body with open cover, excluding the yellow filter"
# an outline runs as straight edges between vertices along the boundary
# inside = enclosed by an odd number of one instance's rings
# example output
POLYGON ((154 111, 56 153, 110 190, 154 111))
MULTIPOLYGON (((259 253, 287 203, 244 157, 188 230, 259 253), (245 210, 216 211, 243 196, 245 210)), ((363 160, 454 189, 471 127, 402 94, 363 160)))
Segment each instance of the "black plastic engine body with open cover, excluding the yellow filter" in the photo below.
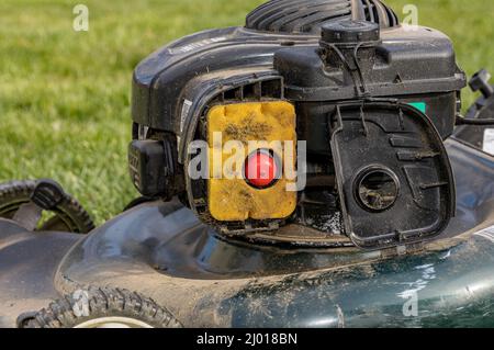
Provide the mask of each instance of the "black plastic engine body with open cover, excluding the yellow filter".
MULTIPOLYGON (((150 135, 173 139, 173 168, 187 169, 188 146, 205 139, 211 108, 292 103, 310 180, 297 211, 276 223, 221 223, 222 232, 247 239, 266 232, 268 240, 281 241, 277 234, 295 223, 304 229, 285 241, 333 247, 335 236, 338 245, 340 237, 349 242, 328 224, 343 217, 353 244, 374 249, 438 235, 453 215, 454 182, 442 140, 453 133, 464 86, 449 37, 400 25, 379 0, 271 0, 244 27, 187 36, 142 61, 132 115, 150 135)), ((131 157, 143 174, 153 174, 134 179, 149 180, 135 181, 142 192, 171 188, 187 194, 203 222, 220 225, 211 219, 205 182, 184 173, 179 185, 179 176, 160 176, 168 168, 155 146, 137 147, 131 157)))

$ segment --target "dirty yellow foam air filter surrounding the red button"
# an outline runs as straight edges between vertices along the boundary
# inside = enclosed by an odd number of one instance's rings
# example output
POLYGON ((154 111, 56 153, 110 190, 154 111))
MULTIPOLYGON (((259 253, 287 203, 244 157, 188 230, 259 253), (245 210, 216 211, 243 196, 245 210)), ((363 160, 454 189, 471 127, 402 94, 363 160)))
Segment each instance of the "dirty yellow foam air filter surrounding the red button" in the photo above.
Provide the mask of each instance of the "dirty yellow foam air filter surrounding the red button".
POLYGON ((207 113, 207 203, 216 221, 280 219, 295 211, 296 192, 288 191, 287 184, 296 179, 289 180, 285 173, 287 166, 295 169, 296 159, 295 110, 291 103, 273 101, 213 106, 207 113), (292 146, 288 147, 288 144, 292 146), (276 147, 270 147, 272 145, 276 147), (268 147, 282 160, 284 169, 270 188, 256 189, 244 179, 246 157, 256 150, 252 146, 257 149, 268 147), (239 151, 240 147, 244 151, 239 151))

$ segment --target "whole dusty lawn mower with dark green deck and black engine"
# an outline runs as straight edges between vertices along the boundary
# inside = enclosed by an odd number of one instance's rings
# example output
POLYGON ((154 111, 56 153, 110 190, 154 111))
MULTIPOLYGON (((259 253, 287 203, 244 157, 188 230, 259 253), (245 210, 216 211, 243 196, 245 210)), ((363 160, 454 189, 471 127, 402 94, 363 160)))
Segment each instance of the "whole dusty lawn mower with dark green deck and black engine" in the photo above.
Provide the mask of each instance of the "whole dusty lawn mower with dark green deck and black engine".
POLYGON ((379 0, 272 0, 135 69, 131 179, 93 228, 0 187, 4 327, 494 326, 494 97, 379 0))

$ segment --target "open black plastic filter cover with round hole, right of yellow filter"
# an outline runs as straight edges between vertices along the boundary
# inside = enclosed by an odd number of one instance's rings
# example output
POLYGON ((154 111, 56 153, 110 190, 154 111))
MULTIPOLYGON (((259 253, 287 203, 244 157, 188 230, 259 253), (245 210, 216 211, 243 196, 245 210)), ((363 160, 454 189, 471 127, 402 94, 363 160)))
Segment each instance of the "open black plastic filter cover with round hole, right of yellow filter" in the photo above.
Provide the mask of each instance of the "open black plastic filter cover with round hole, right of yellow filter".
POLYGON ((332 150, 346 234, 362 248, 434 237, 454 213, 454 181, 440 136, 408 105, 338 106, 332 150))

